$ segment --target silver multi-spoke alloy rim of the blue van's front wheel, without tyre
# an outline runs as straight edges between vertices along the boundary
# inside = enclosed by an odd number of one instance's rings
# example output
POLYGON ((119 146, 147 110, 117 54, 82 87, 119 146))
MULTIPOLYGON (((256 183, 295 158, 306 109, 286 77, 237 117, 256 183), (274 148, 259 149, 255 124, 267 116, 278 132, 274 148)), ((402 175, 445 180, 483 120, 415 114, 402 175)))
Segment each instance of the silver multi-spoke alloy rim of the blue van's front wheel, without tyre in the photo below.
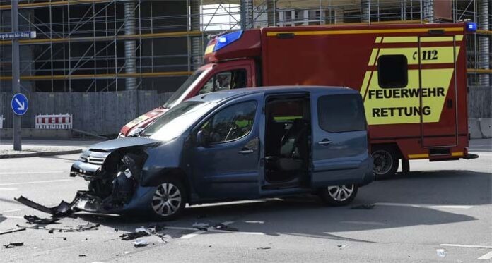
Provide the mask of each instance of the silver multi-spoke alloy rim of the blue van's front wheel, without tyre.
POLYGON ((163 183, 158 186, 152 197, 152 209, 159 216, 172 216, 181 207, 182 193, 172 183, 163 183))

